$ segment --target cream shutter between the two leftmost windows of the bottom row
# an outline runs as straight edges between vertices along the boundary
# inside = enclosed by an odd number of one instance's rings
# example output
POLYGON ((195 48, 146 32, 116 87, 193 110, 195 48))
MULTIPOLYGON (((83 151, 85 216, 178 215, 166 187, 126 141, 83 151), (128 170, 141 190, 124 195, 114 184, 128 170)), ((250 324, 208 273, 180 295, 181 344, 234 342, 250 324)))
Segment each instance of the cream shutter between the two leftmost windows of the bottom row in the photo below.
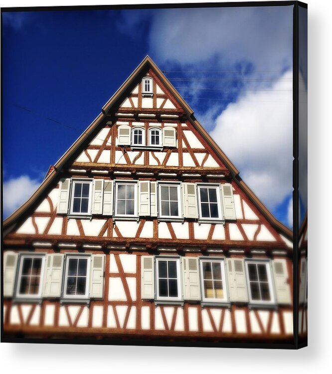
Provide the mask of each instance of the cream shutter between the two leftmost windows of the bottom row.
POLYGON ((60 297, 64 254, 53 253, 46 255, 46 271, 43 284, 43 297, 60 297))

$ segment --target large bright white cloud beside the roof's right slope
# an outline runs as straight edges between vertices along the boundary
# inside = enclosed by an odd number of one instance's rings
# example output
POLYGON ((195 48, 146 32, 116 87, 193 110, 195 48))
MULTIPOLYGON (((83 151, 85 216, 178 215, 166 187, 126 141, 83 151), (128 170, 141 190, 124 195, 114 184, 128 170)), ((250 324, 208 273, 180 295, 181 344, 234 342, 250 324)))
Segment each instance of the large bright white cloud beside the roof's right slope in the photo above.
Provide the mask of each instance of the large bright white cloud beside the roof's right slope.
POLYGON ((271 89, 229 104, 210 134, 249 187, 274 208, 292 191, 292 72, 271 89))

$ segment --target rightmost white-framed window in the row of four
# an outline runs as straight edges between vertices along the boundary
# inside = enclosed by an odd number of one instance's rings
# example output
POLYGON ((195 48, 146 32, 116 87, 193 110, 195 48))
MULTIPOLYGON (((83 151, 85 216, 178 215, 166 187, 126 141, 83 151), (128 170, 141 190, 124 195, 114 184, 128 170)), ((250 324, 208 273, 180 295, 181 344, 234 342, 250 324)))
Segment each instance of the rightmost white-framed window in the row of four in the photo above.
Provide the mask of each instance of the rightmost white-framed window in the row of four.
POLYGON ((203 219, 222 219, 219 186, 198 186, 199 212, 203 219))

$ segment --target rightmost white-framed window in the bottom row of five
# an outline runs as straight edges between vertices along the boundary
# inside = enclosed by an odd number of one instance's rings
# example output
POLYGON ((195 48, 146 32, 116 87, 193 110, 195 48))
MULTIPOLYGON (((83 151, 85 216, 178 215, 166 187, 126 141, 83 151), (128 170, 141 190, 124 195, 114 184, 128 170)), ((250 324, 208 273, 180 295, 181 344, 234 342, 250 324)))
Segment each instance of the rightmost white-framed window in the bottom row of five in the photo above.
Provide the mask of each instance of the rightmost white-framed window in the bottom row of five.
POLYGON ((270 263, 246 261, 246 270, 250 302, 274 302, 270 263))

